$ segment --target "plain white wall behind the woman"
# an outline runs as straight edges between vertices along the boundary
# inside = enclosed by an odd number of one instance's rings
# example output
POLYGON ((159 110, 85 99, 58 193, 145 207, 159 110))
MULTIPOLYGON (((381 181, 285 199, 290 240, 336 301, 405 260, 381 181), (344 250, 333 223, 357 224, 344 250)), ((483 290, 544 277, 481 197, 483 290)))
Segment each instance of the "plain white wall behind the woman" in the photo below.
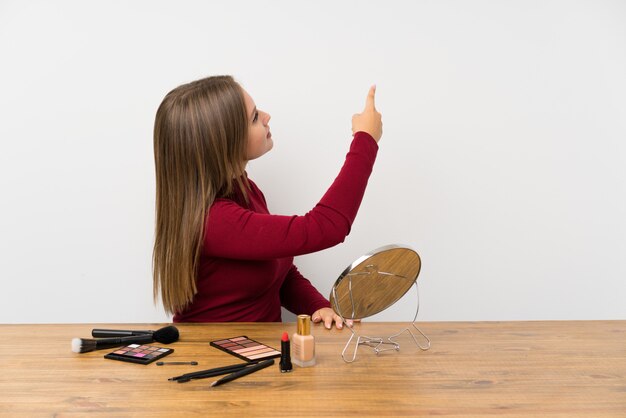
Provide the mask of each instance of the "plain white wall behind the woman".
POLYGON ((626 318, 626 2, 1 0, 0 61, 2 323, 168 320, 154 114, 213 74, 272 115, 248 172, 283 214, 322 196, 378 85, 352 233, 297 260, 324 294, 404 243, 421 320, 626 318))

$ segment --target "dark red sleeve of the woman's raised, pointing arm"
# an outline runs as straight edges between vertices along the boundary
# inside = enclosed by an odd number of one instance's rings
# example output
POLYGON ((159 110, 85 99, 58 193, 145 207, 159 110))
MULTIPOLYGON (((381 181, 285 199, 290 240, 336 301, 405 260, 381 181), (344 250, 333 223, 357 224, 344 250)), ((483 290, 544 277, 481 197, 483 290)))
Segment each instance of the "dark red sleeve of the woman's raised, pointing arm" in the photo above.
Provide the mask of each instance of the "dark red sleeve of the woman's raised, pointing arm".
POLYGON ((303 216, 257 213, 217 199, 207 219, 203 251, 230 259, 294 257, 343 242, 363 199, 378 144, 365 132, 354 135, 345 162, 318 204, 303 216))

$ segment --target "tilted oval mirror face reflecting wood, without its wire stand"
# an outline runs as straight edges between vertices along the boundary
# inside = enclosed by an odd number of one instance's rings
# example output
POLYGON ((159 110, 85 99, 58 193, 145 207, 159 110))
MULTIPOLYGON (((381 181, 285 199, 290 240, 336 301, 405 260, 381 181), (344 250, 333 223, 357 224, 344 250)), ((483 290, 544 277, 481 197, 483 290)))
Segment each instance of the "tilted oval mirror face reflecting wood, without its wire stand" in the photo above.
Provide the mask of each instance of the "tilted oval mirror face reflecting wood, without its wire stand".
POLYGON ((421 265, 419 255, 411 248, 378 248, 341 273, 330 293, 331 306, 344 319, 362 319, 382 312, 413 286, 421 265))

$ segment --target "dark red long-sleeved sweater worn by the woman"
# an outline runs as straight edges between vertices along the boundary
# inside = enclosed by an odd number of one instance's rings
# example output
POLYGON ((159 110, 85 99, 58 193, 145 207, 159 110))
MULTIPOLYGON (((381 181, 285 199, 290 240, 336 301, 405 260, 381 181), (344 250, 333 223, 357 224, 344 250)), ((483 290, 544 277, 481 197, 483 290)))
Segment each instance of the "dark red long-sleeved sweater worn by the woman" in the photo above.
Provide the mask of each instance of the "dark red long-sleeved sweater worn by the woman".
POLYGON ((293 257, 343 242, 363 199, 378 144, 354 135, 339 175, 304 216, 272 215, 248 180, 242 197, 216 199, 209 210, 193 302, 174 322, 278 322, 281 306, 309 314, 330 304, 293 257))

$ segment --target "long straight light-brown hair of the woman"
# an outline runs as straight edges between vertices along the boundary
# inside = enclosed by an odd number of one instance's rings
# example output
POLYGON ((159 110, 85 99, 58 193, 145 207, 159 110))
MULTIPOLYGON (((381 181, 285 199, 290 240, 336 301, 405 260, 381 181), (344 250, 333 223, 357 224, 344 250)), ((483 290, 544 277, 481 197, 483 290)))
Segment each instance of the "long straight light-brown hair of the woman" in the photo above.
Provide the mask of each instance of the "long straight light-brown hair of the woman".
POLYGON ((179 86, 154 123, 156 226, 153 296, 167 313, 197 293, 196 275, 208 209, 217 197, 244 193, 248 118, 241 86, 215 76, 179 86))

